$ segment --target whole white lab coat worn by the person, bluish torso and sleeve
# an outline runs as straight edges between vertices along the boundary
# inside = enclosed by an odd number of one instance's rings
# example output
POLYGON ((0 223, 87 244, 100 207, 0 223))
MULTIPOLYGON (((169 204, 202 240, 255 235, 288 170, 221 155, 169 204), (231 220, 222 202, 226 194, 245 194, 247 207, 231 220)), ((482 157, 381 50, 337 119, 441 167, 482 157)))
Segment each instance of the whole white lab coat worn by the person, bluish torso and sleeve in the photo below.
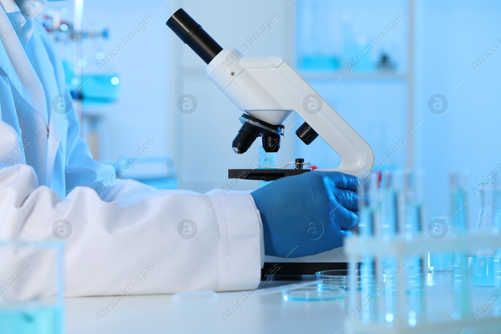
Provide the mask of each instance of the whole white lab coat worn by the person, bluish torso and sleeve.
POLYGON ((259 282, 262 223, 250 194, 160 191, 119 180, 98 195, 115 170, 92 159, 74 110, 53 110, 53 98, 68 94, 62 65, 44 28, 30 25, 33 33, 11 34, 0 7, 0 36, 9 35, 0 45, 0 239, 57 240, 53 224, 68 220, 68 296, 123 295, 151 266, 131 293, 236 290, 259 282), (198 227, 192 239, 178 234, 184 219, 198 227))

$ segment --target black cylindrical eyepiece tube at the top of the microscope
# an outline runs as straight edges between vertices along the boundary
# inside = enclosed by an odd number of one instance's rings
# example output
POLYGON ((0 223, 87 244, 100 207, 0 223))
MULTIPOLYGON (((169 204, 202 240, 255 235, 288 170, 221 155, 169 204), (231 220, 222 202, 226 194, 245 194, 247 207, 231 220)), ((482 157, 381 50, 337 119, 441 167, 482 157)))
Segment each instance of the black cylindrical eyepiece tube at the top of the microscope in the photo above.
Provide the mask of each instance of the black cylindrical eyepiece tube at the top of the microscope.
POLYGON ((166 25, 206 64, 222 51, 222 48, 182 8, 174 13, 166 25))

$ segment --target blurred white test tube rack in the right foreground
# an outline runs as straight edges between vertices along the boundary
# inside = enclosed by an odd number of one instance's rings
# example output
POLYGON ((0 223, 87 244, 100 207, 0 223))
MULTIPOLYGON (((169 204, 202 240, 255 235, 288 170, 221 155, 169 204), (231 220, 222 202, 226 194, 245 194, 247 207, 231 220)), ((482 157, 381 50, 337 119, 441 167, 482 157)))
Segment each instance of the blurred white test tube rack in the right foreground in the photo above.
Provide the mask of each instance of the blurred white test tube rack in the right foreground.
MULTIPOLYGON (((345 321, 345 328, 349 334, 368 334, 368 333, 385 333, 385 334, 406 334, 406 333, 488 333, 489 330, 492 332, 499 332, 501 328, 501 316, 499 316, 499 311, 497 311, 497 316, 494 314, 494 310, 491 310, 490 314, 485 312, 485 316, 480 316, 479 308, 477 306, 482 306, 479 301, 488 301, 490 305, 492 303, 492 296, 497 295, 501 298, 501 288, 499 286, 501 282, 501 271, 499 268, 499 251, 501 249, 501 233, 497 230, 473 230, 466 234, 454 234, 449 233, 445 238, 441 240, 435 240, 432 238, 427 231, 420 232, 414 235, 405 234, 395 234, 393 236, 376 234, 372 236, 358 236, 352 235, 345 239, 344 250, 348 256, 348 262, 350 268, 357 268, 358 263, 363 259, 372 258, 374 263, 374 272, 381 272, 380 268, 385 258, 393 258, 396 262, 393 263, 409 263, 411 259, 421 259, 421 261, 416 261, 420 263, 421 282, 418 283, 419 294, 422 299, 433 300, 435 303, 440 302, 457 302, 457 298, 460 298, 458 311, 448 317, 440 317, 432 319, 429 314, 422 315, 415 319, 415 321, 409 321, 408 311, 412 309, 409 305, 409 271, 410 269, 406 267, 401 271, 392 285, 392 291, 387 289, 381 294, 377 295, 372 302, 374 306, 385 304, 382 308, 378 309, 378 316, 372 319, 364 320, 363 316, 358 316, 364 312, 364 309, 368 309, 366 304, 368 301, 364 301, 364 305, 361 306, 361 289, 356 288, 356 277, 353 274, 354 270, 350 270, 350 289, 347 291, 347 318, 345 321), (497 251, 497 256, 494 259, 496 262, 494 266, 494 285, 486 286, 481 288, 481 294, 484 295, 484 299, 479 298, 478 293, 471 291, 471 285, 468 279, 468 269, 467 269, 467 256, 472 249, 494 249, 497 251), (431 290, 429 284, 426 280, 428 276, 432 275, 427 270, 425 259, 428 258, 430 253, 440 253, 440 252, 451 252, 455 253, 457 256, 462 257, 462 260, 457 264, 455 268, 456 272, 451 273, 453 276, 452 284, 458 293, 449 293, 449 295, 430 295, 431 290), (392 305, 388 305, 388 295, 391 294, 394 298, 392 305), (447 299, 447 297, 449 299, 447 299), (478 302, 474 302, 475 298, 478 302), (430 299, 431 298, 431 299, 430 299), (379 299, 379 300, 378 300, 379 299), (390 307, 388 307, 390 306, 390 307), (362 307, 364 309, 362 309, 362 307), (391 309, 391 315, 384 314, 386 310, 391 309), (349 313, 351 312, 351 313, 349 313), (381 314, 383 313, 383 314, 381 314), (474 315, 476 314, 476 316, 474 315), (381 316, 381 315, 386 315, 381 316), (383 321, 381 321, 383 319, 383 321), (407 320, 406 320, 407 319, 407 320), (492 329, 494 328, 494 329, 492 329)), ((377 276, 377 275, 376 275, 377 276)), ((377 279, 375 284, 378 284, 377 279)), ((457 292, 456 291, 456 292, 457 292)), ((431 293, 433 294, 433 293, 431 293)), ((494 298, 496 299, 496 298, 494 298)), ((499 310, 499 305, 501 300, 496 301, 497 310, 499 310)), ((485 303, 483 304, 485 305, 485 303)), ((494 308, 494 306, 491 306, 494 308)), ((377 307, 375 307, 377 309, 377 307)), ((483 307, 485 310, 485 307, 483 307)))

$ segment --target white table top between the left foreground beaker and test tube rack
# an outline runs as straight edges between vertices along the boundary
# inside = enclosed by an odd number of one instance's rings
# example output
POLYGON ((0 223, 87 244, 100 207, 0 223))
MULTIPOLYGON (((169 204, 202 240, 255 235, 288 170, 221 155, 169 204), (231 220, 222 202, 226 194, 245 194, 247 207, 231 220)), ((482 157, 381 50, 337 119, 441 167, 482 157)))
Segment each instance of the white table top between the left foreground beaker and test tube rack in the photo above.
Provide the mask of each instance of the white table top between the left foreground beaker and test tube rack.
POLYGON ((99 321, 96 313, 114 298, 66 298, 67 332, 343 334, 346 318, 346 299, 305 302, 285 301, 280 293, 254 295, 224 321, 221 313, 227 313, 226 307, 237 299, 219 298, 213 305, 177 307, 172 303, 171 294, 163 294, 126 296, 99 321))

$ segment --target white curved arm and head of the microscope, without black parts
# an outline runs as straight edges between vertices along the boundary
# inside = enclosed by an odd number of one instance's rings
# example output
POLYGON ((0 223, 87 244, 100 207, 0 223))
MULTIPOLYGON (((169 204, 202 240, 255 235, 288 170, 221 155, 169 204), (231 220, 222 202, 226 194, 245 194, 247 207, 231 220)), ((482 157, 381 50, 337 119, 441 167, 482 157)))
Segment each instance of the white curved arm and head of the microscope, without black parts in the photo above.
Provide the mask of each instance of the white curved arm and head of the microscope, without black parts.
POLYGON ((372 168, 370 145, 283 59, 227 48, 207 65, 207 75, 240 110, 267 123, 280 125, 297 112, 341 157, 328 170, 360 175, 372 168))

